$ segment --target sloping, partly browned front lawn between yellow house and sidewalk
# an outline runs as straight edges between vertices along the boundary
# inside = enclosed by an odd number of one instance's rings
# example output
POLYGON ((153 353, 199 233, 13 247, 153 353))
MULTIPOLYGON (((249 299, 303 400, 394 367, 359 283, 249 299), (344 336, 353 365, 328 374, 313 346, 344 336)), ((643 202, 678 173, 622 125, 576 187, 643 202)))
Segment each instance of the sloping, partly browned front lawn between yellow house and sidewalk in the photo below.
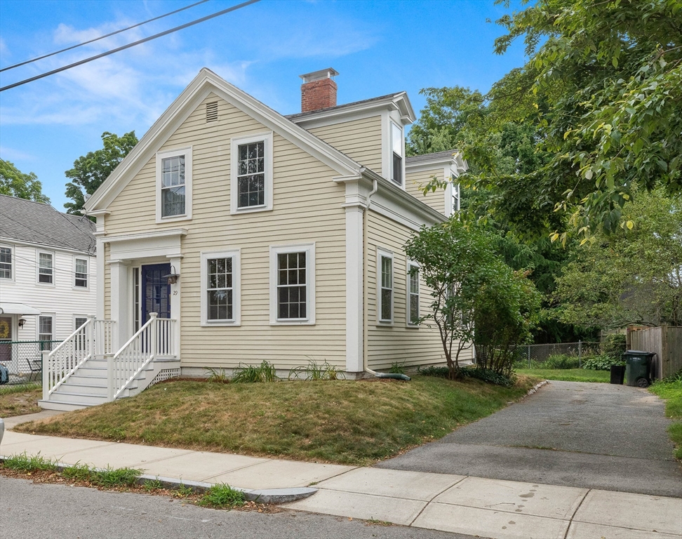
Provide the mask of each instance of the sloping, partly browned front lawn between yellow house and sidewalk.
POLYGON ((423 375, 410 382, 178 380, 14 430, 368 465, 490 415, 536 382, 520 376, 506 388, 423 375))

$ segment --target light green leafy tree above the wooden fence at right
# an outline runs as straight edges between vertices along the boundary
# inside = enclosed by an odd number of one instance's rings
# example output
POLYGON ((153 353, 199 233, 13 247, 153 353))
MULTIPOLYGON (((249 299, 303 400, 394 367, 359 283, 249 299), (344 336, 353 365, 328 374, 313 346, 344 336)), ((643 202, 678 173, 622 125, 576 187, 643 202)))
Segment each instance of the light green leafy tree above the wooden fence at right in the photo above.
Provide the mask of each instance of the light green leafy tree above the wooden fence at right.
POLYGON ((623 215, 633 229, 596 234, 557 279, 555 316, 603 329, 681 324, 680 199, 664 187, 636 192, 623 215))

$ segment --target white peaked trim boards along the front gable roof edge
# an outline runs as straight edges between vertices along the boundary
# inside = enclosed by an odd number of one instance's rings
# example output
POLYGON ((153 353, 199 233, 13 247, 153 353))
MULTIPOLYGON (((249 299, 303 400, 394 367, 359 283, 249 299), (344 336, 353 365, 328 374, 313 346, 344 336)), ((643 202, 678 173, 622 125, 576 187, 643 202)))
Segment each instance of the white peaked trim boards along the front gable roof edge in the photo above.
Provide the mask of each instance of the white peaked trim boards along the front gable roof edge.
POLYGON ((131 153, 121 161, 109 178, 88 199, 85 204, 86 211, 91 213, 105 209, 211 92, 246 112, 253 119, 260 121, 261 124, 271 128, 272 131, 304 149, 338 173, 351 175, 359 172, 361 168, 359 163, 204 67, 166 109, 166 112, 154 122, 131 153))

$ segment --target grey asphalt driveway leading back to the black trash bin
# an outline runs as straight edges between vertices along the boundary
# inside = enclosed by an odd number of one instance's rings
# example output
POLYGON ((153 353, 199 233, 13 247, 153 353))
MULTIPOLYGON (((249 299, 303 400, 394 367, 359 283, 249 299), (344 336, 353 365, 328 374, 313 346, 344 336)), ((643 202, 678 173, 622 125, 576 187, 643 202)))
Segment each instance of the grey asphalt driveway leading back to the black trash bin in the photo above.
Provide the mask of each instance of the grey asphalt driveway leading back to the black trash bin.
POLYGON ((682 497, 669 424, 647 390, 554 381, 377 467, 682 497))

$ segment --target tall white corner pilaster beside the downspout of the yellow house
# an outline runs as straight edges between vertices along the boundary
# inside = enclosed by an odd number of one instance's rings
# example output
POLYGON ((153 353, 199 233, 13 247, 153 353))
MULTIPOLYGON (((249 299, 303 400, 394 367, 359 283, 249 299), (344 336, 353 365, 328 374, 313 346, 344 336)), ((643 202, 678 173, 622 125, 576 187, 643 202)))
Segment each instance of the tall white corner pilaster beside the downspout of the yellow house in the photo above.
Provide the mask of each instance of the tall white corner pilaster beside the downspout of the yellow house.
POLYGON ((346 210, 346 371, 363 371, 363 211, 346 210))

